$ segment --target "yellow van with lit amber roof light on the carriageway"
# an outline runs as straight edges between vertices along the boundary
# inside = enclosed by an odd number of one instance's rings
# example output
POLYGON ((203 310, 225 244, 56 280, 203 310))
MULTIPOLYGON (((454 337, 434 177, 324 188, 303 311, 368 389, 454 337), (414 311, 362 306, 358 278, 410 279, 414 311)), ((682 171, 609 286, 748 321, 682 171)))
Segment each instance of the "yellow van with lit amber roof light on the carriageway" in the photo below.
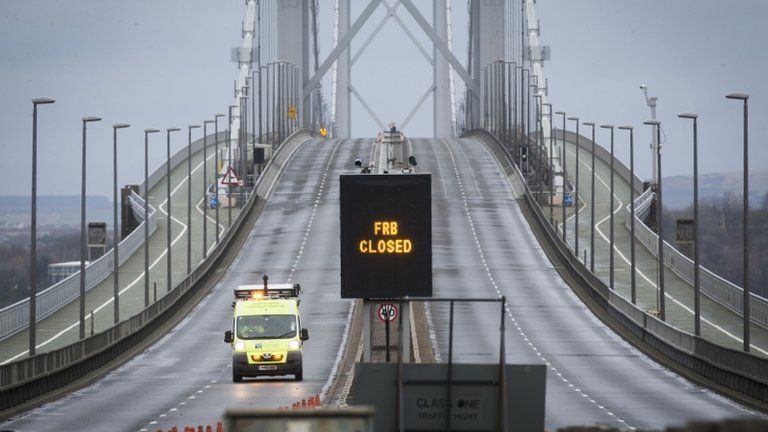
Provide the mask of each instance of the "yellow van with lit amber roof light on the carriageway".
POLYGON ((243 377, 294 375, 304 378, 302 358, 309 331, 301 328, 299 284, 240 285, 235 288, 232 330, 232 381, 243 377))

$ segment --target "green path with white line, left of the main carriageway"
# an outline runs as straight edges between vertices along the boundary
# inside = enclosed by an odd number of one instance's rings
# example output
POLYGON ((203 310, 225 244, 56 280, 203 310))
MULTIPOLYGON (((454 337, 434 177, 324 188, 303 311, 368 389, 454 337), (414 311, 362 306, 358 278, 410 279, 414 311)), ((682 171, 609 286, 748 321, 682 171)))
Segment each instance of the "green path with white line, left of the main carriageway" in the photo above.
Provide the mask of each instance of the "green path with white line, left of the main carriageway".
MULTIPOLYGON (((215 157, 213 142, 208 140, 208 160, 206 169, 209 178, 213 178, 215 157)), ((219 151, 223 153, 223 145, 219 151)), ((184 150, 182 150, 184 151, 184 150)), ((203 257, 203 152, 192 154, 192 267, 203 257)), ((186 275, 187 267, 187 163, 186 159, 171 170, 171 216, 172 216, 172 284, 178 284, 186 275)), ((150 189, 150 204, 157 210, 157 230, 149 237, 150 265, 150 302, 154 299, 153 286, 157 284, 157 298, 166 290, 166 181, 165 177, 150 189)), ((232 220, 239 209, 232 209, 232 220)), ((219 209, 219 235, 223 236, 227 227, 227 209, 219 209)), ((208 209, 207 245, 210 249, 216 241, 215 211, 208 209)), ((113 290, 114 279, 110 275, 86 293, 86 335, 90 334, 90 312, 94 311, 94 331, 96 333, 113 325, 113 290)), ((120 318, 122 320, 138 313, 144 308, 144 247, 140 247, 120 266, 120 318)), ((38 352, 60 348, 78 340, 79 337, 79 301, 64 306, 51 316, 38 321, 38 352)), ((21 331, 0 343, 0 363, 22 358, 28 352, 29 332, 21 331)))

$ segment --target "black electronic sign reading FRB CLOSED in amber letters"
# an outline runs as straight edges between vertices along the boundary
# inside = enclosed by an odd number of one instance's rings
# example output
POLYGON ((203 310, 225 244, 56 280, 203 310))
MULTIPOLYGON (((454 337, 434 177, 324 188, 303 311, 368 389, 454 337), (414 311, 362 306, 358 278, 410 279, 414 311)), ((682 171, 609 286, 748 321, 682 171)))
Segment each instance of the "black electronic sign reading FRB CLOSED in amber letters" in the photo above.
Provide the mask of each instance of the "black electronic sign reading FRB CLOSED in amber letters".
POLYGON ((431 176, 339 180, 341 297, 432 296, 431 176))

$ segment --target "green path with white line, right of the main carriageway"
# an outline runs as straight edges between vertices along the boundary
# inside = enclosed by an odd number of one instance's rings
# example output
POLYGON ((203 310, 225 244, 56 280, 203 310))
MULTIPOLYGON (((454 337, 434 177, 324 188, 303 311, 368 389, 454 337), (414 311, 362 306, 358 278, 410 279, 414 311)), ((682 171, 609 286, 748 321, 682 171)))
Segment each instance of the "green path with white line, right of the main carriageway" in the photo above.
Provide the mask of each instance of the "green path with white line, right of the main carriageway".
MULTIPOLYGON (((561 144, 562 141, 558 141, 558 143, 561 144)), ((571 181, 575 180, 575 151, 575 143, 568 141, 566 167, 571 181)), ((591 153, 581 148, 579 159, 579 199, 582 201, 581 213, 579 214, 579 256, 583 259, 586 250, 587 260, 589 260, 591 153)), ((610 221, 608 217, 610 166, 600 158, 595 158, 595 164, 595 272, 600 279, 608 284, 610 278, 610 221)), ((616 291, 626 299, 631 298, 630 231, 624 224, 624 213, 621 209, 628 204, 629 183, 623 177, 614 175, 614 211, 616 212, 614 214, 614 286, 616 291)), ((544 213, 548 214, 548 210, 545 209, 544 213)), ((561 221, 561 208, 555 208, 554 215, 558 222, 561 221)), ((573 247, 575 218, 572 210, 568 212, 567 218, 566 235, 571 247, 573 247)), ((644 310, 655 309, 658 292, 656 284, 657 260, 639 241, 635 244, 635 256, 637 304, 644 310)), ((667 322, 693 334, 693 287, 669 268, 666 268, 664 278, 667 322)), ((733 349, 740 350, 743 348, 743 323, 740 315, 705 295, 701 296, 701 311, 701 333, 704 338, 733 349)), ((751 338, 752 352, 757 355, 768 356, 768 329, 753 323, 751 338)))

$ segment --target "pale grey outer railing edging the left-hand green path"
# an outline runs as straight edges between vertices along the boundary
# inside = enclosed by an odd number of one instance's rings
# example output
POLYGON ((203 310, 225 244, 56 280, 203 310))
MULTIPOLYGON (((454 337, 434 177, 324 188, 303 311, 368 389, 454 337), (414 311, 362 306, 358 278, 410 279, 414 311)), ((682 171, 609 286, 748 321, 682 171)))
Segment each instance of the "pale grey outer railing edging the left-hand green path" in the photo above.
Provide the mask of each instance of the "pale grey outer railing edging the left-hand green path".
MULTIPOLYGON (((135 192, 128 198, 131 211, 142 222, 118 245, 122 265, 136 250, 144 244, 144 200, 135 192)), ((157 229, 157 217, 154 207, 149 209, 149 234, 157 229)), ((110 249, 85 268, 85 290, 90 291, 112 274, 114 269, 114 249, 110 249)), ((66 306, 80 295, 80 272, 51 285, 37 294, 37 319, 44 319, 66 306)), ((29 327, 29 298, 18 301, 0 310, 0 341, 29 327)))

